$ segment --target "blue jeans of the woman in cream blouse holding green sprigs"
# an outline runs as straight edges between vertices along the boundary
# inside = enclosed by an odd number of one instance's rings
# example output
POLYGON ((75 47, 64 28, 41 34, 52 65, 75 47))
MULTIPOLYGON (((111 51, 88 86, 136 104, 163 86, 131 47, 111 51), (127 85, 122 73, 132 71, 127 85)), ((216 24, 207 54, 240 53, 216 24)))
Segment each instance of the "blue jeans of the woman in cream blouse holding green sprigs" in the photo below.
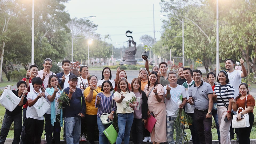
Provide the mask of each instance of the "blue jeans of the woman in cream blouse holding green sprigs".
POLYGON ((124 144, 129 143, 131 125, 133 124, 133 113, 127 114, 117 114, 117 123, 118 123, 118 136, 116 144, 121 144, 122 139, 124 144))

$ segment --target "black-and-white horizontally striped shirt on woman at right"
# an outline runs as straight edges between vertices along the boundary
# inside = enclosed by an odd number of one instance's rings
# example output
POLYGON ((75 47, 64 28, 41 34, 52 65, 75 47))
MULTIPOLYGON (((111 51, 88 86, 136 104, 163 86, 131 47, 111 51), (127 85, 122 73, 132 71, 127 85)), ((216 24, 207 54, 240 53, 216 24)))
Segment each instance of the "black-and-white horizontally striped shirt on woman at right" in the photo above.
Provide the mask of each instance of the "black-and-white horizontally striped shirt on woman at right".
POLYGON ((221 87, 221 97, 226 103, 226 105, 229 105, 229 99, 234 98, 235 90, 230 83, 227 83, 226 85, 222 85, 222 86, 220 84, 215 85, 214 91, 215 91, 215 94, 217 94, 217 106, 225 106, 219 95, 220 87, 221 87))

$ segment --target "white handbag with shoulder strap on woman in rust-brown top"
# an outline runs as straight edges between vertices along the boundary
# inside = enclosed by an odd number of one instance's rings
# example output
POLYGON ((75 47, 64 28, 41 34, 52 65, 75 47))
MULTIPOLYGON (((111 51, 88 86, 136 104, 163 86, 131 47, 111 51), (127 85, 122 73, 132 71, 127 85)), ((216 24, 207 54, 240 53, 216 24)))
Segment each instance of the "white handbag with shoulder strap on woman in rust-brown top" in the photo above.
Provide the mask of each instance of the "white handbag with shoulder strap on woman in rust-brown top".
MULTIPOLYGON (((247 95, 248 96, 248 95, 247 95)), ((247 101, 247 96, 246 96, 246 99, 245 99, 245 108, 246 108, 246 101, 247 101)), ((239 107, 237 109, 237 113, 239 110, 244 110, 242 107, 239 107)), ((250 126, 250 121, 249 121, 249 114, 246 113, 246 114, 243 114, 243 118, 240 120, 240 121, 237 121, 237 115, 238 114, 235 114, 233 116, 233 119, 232 119, 232 128, 245 128, 245 127, 249 127, 250 126)))

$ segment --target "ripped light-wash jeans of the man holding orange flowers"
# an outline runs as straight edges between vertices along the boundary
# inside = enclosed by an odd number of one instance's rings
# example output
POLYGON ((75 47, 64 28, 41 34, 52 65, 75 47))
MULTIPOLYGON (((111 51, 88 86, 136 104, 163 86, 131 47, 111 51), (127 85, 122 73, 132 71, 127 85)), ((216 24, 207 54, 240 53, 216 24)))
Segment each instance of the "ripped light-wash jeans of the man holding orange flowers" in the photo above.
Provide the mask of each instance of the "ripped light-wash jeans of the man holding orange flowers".
MULTIPOLYGON (((177 117, 169 117, 166 115, 166 128, 167 128, 167 143, 168 144, 175 144, 173 139, 173 131, 174 131, 174 121, 177 117)), ((178 127, 175 127, 177 133, 178 127)), ((181 128, 180 128, 181 129, 181 128)), ((176 143, 181 144, 183 141, 183 132, 180 135, 176 134, 176 143)))

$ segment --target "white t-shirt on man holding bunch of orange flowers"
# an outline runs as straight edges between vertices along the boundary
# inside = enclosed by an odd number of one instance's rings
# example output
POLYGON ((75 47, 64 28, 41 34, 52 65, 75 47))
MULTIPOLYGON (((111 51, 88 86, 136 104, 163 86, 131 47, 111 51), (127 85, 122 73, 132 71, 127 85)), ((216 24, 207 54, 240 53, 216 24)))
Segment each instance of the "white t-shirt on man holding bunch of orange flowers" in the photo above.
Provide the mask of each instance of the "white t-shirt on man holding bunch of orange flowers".
MULTIPOLYGON (((168 85, 171 87, 170 85, 168 85)), ((163 87, 165 90, 164 96, 166 94, 166 86, 163 87)), ((177 117, 176 111, 179 108, 178 101, 182 101, 182 98, 186 98, 186 90, 183 86, 177 85, 177 87, 171 87, 171 98, 168 100, 165 98, 165 106, 166 106, 166 115, 169 117, 177 117)))

